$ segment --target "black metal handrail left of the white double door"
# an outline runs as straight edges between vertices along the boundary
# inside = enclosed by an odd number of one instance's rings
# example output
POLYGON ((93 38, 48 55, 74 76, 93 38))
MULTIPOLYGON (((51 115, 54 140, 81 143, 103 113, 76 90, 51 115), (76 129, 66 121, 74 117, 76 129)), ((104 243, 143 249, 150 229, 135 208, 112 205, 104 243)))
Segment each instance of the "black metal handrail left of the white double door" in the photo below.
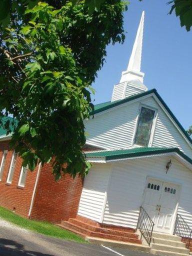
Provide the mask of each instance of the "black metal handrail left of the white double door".
POLYGON ((154 226, 154 222, 149 217, 145 209, 142 206, 140 206, 140 212, 139 212, 136 228, 140 230, 140 233, 141 233, 140 239, 143 236, 149 246, 152 238, 153 226, 154 226))

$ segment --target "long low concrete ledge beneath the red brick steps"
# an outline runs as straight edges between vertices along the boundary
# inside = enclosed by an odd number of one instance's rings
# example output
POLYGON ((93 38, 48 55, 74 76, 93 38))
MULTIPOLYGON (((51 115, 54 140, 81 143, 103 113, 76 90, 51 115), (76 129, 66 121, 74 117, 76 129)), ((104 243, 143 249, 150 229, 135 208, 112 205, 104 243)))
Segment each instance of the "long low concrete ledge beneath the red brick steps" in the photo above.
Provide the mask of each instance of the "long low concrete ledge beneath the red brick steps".
POLYGON ((145 252, 150 251, 150 247, 147 245, 136 244, 131 242, 115 241, 115 240, 103 239, 100 237, 92 237, 92 236, 86 236, 85 240, 94 244, 99 244, 99 245, 105 245, 105 246, 111 246, 111 247, 117 247, 117 248, 127 248, 131 250, 138 250, 138 251, 145 251, 145 252))

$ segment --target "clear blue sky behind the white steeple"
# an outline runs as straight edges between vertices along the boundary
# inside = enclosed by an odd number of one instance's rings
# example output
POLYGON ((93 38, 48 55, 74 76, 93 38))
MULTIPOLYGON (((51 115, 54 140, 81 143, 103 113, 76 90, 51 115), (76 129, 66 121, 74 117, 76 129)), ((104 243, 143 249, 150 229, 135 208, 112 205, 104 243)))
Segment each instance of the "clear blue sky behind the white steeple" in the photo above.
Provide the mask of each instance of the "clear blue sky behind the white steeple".
POLYGON ((192 125, 192 28, 180 27, 168 0, 130 0, 124 13, 125 41, 107 46, 106 62, 92 87, 94 104, 109 101, 113 85, 126 70, 142 10, 145 11, 141 71, 185 129, 192 125))

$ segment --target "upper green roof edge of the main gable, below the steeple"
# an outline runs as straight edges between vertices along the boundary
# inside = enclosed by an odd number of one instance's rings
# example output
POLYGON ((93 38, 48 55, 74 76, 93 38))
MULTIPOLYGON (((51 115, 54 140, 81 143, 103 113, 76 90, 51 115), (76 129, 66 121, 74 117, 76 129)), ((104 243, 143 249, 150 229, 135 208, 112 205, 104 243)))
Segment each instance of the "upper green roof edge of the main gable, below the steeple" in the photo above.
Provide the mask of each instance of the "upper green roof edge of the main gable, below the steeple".
POLYGON ((164 108, 166 109, 166 111, 170 114, 170 116, 172 117, 172 119, 175 121, 175 123, 178 125, 178 127, 180 128, 180 130, 182 131, 183 135, 187 138, 187 140, 192 144, 192 139, 190 138, 190 136, 188 135, 188 133, 186 132, 186 130, 182 127, 182 125, 180 124, 180 122, 177 120, 177 118, 175 117, 175 115, 172 113, 172 111, 170 110, 170 108, 167 106, 167 104, 164 102, 164 100, 161 98, 161 96, 158 94, 158 92, 156 91, 156 89, 151 89, 151 90, 147 90, 145 92, 139 93, 139 94, 135 94, 133 96, 121 99, 121 100, 116 100, 116 101, 107 101, 101 104, 97 104, 94 107, 94 111, 90 113, 90 115, 102 112, 104 110, 110 109, 112 107, 121 105, 123 103, 129 102, 131 100, 149 95, 154 93, 155 96, 158 98, 158 100, 161 102, 161 104, 164 106, 164 108))

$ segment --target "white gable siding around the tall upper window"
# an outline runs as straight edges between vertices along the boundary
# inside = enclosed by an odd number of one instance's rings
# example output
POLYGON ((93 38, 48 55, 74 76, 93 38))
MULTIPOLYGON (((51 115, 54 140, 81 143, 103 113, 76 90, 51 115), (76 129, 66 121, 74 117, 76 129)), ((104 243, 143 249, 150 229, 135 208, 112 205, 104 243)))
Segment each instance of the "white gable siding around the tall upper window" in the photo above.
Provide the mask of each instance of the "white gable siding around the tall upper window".
POLYGON ((152 146, 178 147, 192 157, 191 147, 152 96, 112 108, 89 119, 85 123, 87 142, 105 148, 130 147, 140 104, 157 108, 152 146))

